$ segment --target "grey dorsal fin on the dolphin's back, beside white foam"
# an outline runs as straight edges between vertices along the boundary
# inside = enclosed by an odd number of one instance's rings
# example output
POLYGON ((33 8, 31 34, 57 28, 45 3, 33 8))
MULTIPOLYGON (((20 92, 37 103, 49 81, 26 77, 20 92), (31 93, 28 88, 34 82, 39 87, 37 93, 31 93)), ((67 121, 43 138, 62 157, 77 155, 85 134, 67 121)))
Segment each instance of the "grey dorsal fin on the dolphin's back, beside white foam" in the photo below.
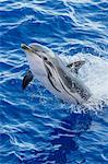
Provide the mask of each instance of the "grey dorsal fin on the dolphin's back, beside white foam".
POLYGON ((71 70, 77 73, 79 69, 85 63, 85 60, 77 60, 69 63, 67 67, 71 70))

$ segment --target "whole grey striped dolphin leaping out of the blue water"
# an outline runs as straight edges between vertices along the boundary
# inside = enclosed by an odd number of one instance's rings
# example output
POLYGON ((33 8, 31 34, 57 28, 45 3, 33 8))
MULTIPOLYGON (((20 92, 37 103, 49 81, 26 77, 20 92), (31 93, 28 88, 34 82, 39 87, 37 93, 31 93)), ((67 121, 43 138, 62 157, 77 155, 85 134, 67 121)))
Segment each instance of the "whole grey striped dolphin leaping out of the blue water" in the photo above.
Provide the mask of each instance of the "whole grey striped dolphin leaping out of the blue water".
POLYGON ((29 65, 29 70, 23 79, 23 89, 35 78, 64 102, 82 104, 91 97, 91 91, 77 77, 77 70, 84 65, 84 61, 75 61, 67 66, 46 46, 22 44, 21 47, 29 65))

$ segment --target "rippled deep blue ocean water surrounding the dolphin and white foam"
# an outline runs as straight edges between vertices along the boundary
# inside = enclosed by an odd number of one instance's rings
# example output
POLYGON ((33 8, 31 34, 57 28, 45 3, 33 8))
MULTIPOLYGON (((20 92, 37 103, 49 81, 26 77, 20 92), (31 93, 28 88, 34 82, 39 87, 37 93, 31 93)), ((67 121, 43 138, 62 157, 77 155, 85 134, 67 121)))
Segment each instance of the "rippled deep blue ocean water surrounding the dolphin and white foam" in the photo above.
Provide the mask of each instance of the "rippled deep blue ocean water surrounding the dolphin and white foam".
POLYGON ((107 105, 70 113, 37 81, 22 91, 21 44, 35 42, 108 58, 108 1, 0 0, 0 164, 107 164, 107 105))

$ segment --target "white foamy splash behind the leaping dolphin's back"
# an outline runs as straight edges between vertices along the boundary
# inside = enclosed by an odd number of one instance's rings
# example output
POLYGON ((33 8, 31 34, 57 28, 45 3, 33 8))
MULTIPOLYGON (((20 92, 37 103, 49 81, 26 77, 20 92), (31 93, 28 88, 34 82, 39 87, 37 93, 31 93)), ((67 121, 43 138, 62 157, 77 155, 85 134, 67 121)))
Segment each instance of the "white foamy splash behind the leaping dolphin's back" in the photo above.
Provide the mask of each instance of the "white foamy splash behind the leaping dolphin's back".
POLYGON ((100 110, 104 105, 108 105, 108 59, 89 54, 77 54, 73 57, 61 56, 61 59, 67 63, 75 60, 86 61, 79 71, 79 77, 92 92, 92 97, 83 104, 85 108, 100 110))

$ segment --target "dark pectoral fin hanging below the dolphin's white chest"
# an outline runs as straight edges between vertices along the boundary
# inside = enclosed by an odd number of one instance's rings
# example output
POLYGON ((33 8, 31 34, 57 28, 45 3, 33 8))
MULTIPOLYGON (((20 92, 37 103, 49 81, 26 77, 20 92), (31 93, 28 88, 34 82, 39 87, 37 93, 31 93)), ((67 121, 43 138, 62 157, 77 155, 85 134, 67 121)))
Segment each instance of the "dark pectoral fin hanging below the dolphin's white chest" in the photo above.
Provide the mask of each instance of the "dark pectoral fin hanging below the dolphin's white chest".
POLYGON ((23 79, 22 89, 24 90, 32 80, 33 80, 33 73, 31 70, 28 70, 23 79))

